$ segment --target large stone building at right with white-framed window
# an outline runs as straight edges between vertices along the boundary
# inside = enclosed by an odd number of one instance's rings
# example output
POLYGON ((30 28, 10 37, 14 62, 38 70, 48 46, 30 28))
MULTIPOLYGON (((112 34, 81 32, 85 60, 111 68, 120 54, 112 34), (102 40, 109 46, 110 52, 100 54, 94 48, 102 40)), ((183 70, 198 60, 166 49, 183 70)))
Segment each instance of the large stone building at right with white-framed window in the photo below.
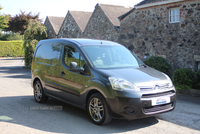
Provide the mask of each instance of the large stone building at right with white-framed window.
POLYGON ((199 0, 143 0, 119 19, 119 42, 140 59, 162 56, 173 70, 200 69, 199 0))

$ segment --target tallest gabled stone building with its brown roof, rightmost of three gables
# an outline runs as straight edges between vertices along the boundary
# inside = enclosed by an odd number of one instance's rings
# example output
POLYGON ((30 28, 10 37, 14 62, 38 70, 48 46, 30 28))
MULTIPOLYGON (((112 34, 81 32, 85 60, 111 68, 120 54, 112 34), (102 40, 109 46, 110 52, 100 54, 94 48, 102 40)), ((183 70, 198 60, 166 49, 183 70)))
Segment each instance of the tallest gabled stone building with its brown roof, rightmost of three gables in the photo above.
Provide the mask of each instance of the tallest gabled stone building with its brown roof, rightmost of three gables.
POLYGON ((97 4, 84 30, 84 38, 118 41, 120 21, 118 16, 130 8, 97 4))

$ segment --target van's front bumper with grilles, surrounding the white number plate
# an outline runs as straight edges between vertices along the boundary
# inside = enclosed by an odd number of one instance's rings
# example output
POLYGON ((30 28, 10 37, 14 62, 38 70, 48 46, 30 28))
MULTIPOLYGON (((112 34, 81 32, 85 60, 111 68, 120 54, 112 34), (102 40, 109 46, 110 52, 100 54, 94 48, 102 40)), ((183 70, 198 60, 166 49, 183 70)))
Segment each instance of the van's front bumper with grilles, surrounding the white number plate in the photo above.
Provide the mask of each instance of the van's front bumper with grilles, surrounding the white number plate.
POLYGON ((107 98, 106 101, 113 118, 133 120, 173 110, 176 104, 176 91, 174 88, 157 92, 116 91, 115 98, 107 98), (170 102, 152 105, 153 100, 163 97, 168 97, 170 102))

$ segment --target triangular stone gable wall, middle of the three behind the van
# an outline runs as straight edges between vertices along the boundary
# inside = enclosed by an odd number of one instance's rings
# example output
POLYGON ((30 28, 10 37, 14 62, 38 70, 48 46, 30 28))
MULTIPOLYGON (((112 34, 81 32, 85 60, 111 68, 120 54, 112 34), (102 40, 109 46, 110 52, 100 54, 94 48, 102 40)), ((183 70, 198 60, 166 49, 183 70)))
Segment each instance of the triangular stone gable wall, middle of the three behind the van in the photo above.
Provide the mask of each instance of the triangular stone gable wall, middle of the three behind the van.
POLYGON ((82 31, 76 21, 68 12, 58 33, 58 38, 81 38, 82 31))

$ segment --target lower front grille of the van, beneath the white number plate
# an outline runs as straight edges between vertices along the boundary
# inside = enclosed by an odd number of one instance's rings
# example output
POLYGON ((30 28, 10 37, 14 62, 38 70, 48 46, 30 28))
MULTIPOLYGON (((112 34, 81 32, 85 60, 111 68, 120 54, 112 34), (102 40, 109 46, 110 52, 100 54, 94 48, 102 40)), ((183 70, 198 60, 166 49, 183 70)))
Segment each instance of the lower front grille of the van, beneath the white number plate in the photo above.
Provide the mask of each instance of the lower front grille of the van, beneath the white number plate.
POLYGON ((172 108, 173 108, 173 103, 169 103, 169 104, 163 104, 159 106, 144 107, 143 111, 146 114, 153 114, 153 113, 164 112, 172 108))

